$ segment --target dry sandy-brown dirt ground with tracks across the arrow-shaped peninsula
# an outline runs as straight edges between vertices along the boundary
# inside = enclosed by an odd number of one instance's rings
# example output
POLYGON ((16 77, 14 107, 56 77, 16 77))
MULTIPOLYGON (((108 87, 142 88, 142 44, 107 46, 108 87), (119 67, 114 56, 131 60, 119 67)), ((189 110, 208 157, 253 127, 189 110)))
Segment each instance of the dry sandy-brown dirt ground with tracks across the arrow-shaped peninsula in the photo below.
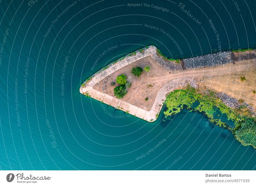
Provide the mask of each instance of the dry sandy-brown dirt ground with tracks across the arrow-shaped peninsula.
MULTIPOLYGON (((107 86, 107 89, 105 89, 104 93, 114 96, 113 89, 119 84, 116 83, 115 86, 111 86, 110 83, 116 82, 116 77, 120 74, 126 75, 127 81, 132 83, 127 90, 127 95, 122 100, 148 111, 151 109, 159 89, 168 81, 180 77, 194 77, 198 85, 206 86, 218 92, 225 92, 236 99, 242 98, 256 108, 256 94, 252 93, 256 89, 255 59, 237 61, 235 64, 229 63, 225 66, 171 71, 158 65, 151 56, 148 56, 106 77, 105 86, 107 86), (149 73, 143 71, 140 77, 131 73, 133 67, 140 66, 144 68, 147 65, 150 66, 149 73), (245 76, 246 81, 242 82, 240 76, 245 76), (148 101, 145 101, 146 97, 148 97, 148 101)), ((93 88, 103 92, 103 81, 94 85, 93 88)))

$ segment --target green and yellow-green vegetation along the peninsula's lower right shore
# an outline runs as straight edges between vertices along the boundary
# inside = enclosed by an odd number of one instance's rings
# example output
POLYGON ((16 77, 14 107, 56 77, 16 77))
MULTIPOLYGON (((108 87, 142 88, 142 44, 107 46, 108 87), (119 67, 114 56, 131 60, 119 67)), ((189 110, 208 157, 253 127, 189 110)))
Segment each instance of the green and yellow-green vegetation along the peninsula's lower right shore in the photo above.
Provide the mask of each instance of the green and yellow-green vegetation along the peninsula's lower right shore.
POLYGON ((164 112, 165 117, 179 113, 184 106, 188 107, 190 111, 204 112, 212 123, 231 130, 240 143, 256 148, 256 119, 252 117, 249 109, 245 106, 232 109, 217 98, 215 92, 194 89, 190 86, 171 92, 167 96, 165 104, 167 108, 164 112), (193 106, 195 103, 199 104, 193 106), (235 126, 229 128, 226 122, 216 119, 214 116, 217 111, 226 114, 228 120, 234 121, 235 126))

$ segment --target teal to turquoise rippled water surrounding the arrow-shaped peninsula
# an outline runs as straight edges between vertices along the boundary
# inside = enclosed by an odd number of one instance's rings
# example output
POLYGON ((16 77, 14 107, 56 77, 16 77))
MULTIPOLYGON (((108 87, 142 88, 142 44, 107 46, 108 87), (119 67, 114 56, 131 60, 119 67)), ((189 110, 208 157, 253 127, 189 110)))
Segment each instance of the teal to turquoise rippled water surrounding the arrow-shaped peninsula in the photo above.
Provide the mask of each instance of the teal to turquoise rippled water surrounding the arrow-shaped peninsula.
POLYGON ((152 43, 174 58, 254 48, 255 1, 128 3, 0 1, 2 170, 255 169, 255 149, 203 113, 147 123, 79 94, 90 74, 152 43))

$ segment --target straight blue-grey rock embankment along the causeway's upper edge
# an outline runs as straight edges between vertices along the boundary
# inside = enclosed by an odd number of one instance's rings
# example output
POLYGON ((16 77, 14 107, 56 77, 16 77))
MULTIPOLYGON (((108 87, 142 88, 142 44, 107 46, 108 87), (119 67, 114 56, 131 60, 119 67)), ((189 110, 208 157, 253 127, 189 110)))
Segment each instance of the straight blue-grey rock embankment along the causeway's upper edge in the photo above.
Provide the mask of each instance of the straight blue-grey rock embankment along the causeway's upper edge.
POLYGON ((218 52, 182 60, 186 69, 216 66, 232 62, 231 52, 218 52))

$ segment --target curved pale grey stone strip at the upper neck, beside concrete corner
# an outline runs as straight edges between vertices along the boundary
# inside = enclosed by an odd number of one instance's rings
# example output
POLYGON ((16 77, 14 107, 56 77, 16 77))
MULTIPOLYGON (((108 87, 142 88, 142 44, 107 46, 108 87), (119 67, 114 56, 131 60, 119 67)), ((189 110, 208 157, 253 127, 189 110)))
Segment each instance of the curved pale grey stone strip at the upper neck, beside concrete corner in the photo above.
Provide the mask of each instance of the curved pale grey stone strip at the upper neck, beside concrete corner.
POLYGON ((156 61, 157 64, 159 64, 160 66, 163 66, 164 68, 166 68, 168 70, 183 70, 181 64, 176 64, 173 61, 164 60, 157 53, 153 53, 153 54, 151 54, 151 56, 156 61))

